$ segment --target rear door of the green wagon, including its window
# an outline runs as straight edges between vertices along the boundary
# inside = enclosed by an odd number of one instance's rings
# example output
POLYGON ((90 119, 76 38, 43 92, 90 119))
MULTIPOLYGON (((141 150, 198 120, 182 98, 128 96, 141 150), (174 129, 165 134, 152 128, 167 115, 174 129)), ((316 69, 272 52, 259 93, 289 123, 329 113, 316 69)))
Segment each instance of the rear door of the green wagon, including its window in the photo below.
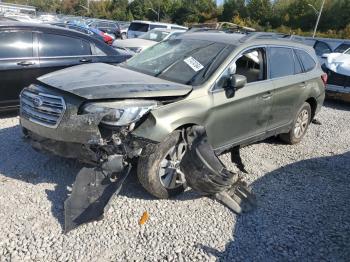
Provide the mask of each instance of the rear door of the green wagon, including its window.
POLYGON ((289 124, 299 109, 307 85, 302 66, 292 48, 269 47, 269 77, 275 86, 269 129, 289 124))

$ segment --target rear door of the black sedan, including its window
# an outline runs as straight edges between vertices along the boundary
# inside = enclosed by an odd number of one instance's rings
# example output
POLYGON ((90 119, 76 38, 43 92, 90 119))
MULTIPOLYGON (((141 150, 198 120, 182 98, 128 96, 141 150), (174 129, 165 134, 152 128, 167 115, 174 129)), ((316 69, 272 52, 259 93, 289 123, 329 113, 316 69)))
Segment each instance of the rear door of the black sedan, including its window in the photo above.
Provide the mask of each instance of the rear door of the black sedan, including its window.
POLYGON ((51 33, 40 33, 38 38, 41 75, 93 62, 90 43, 83 39, 51 33))

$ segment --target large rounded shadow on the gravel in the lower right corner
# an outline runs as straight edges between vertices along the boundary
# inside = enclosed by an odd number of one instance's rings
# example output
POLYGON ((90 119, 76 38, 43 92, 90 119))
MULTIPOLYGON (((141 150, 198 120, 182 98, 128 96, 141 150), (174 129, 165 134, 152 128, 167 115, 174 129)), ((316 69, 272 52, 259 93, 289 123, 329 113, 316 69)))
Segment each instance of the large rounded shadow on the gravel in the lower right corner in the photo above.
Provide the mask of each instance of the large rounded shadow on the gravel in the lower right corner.
POLYGON ((233 240, 200 249, 219 261, 348 261, 350 152, 281 167, 252 188, 257 207, 237 216, 233 240))

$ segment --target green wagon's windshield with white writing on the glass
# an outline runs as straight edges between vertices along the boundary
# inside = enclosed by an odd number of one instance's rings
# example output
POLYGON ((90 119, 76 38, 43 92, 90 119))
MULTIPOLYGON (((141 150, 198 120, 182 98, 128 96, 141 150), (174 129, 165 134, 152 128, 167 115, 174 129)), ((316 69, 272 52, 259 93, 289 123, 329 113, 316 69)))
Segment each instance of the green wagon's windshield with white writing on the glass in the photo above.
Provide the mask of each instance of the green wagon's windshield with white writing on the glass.
POLYGON ((146 49, 123 66, 181 84, 201 85, 233 49, 211 41, 172 39, 146 49))

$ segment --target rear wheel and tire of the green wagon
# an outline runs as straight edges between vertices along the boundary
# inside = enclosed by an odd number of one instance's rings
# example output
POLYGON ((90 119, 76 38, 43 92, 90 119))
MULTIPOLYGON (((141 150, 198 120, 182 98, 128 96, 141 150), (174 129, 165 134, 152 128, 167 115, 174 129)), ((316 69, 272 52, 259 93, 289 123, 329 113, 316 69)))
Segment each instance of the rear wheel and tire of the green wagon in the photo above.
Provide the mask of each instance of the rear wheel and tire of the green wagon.
POLYGON ((299 143, 306 134, 306 131, 311 122, 311 106, 309 103, 304 103, 299 109, 297 116, 293 121, 293 125, 289 133, 280 134, 280 139, 287 144, 299 143))

